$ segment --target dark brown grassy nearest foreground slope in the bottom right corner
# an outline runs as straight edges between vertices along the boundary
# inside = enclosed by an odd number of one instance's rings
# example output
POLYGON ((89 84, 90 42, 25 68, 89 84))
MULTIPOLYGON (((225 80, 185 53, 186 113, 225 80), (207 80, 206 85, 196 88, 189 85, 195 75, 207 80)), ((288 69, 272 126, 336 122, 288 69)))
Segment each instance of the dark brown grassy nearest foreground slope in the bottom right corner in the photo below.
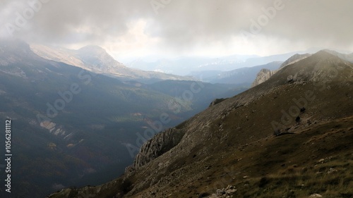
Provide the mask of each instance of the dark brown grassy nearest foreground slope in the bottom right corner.
MULTIPOLYGON (((237 188, 234 197, 300 198, 313 193, 353 197, 353 120, 348 120, 316 125, 296 135, 270 137, 237 151, 241 161, 229 158, 219 162, 228 167, 233 164, 230 166, 239 172, 225 187, 237 188), (336 171, 328 173, 330 168, 336 171)), ((213 172, 213 182, 222 174, 222 169, 213 172)))

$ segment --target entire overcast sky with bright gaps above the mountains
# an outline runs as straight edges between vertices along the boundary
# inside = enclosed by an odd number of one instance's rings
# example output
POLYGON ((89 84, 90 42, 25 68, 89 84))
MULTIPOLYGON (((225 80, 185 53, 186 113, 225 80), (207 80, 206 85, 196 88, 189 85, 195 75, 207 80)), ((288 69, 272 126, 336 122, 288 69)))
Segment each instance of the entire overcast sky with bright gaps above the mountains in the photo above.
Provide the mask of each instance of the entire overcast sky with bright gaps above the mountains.
POLYGON ((116 59, 353 51, 352 0, 1 0, 0 36, 116 59))

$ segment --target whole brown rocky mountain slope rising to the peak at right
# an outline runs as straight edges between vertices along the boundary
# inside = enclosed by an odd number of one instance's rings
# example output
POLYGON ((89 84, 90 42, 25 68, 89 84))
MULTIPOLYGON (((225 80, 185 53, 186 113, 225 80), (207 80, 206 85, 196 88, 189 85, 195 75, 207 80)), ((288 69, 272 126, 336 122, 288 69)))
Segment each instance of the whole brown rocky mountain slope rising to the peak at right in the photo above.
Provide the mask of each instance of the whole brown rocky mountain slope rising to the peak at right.
POLYGON ((352 85, 319 51, 156 135, 121 178, 49 197, 352 197, 352 85))

